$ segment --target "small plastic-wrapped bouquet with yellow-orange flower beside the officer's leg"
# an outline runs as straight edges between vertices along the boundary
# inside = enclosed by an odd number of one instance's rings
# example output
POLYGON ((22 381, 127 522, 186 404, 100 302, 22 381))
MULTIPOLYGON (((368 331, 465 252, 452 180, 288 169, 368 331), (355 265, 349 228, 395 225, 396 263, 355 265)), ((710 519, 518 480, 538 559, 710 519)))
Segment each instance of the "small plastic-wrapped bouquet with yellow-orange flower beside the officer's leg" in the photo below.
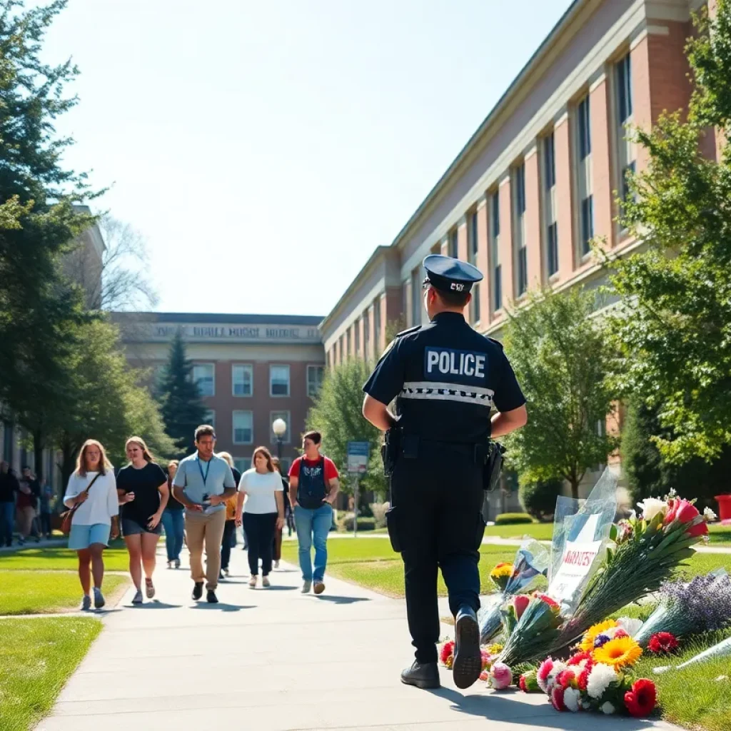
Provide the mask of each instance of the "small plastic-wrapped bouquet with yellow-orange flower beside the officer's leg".
POLYGON ((497 564, 490 572, 490 578, 499 588, 488 604, 480 609, 480 643, 487 644, 502 629, 500 607, 511 596, 525 591, 539 576, 548 572, 548 550, 532 538, 525 539, 515 553, 512 564, 497 564))

